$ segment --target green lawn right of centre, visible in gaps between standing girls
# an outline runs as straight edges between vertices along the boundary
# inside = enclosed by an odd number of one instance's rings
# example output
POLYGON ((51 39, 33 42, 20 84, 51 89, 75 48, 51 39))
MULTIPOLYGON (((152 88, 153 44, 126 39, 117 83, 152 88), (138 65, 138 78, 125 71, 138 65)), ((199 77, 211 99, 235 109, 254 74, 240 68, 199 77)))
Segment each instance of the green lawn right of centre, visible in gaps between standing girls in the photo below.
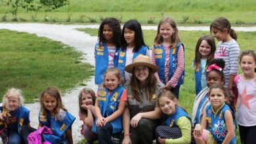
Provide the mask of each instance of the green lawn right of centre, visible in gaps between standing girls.
MULTIPOLYGON (((179 28, 179 27, 178 27, 179 28)), ((79 31, 85 31, 90 35, 96 36, 98 29, 78 29, 79 31)), ((194 48, 196 43, 202 35, 209 35, 209 31, 179 31, 179 36, 182 43, 185 46, 185 81, 181 86, 179 94, 179 104, 182 105, 190 114, 192 115, 192 109, 194 105, 195 94, 195 78, 194 69, 191 67, 192 60, 194 59, 194 48)), ((256 32, 237 32, 238 34, 238 44, 240 46, 241 52, 243 50, 255 50, 255 45, 253 43, 256 32)), ((146 45, 152 48, 154 37, 156 35, 155 30, 143 30, 144 41, 146 45)), ((216 39, 215 42, 217 43, 216 39)), ((241 72, 240 72, 241 73, 241 72)), ((236 132, 236 142, 240 143, 239 132, 236 132)))

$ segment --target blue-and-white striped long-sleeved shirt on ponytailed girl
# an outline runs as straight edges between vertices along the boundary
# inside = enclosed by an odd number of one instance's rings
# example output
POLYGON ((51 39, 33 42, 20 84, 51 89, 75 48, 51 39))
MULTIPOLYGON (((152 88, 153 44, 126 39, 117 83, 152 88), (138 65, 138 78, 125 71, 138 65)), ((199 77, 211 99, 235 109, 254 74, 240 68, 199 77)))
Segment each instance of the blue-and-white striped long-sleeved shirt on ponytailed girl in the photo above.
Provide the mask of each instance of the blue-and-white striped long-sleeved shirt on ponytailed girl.
POLYGON ((238 58, 240 48, 238 43, 232 39, 232 41, 223 42, 220 41, 215 51, 215 58, 223 58, 225 61, 225 67, 223 69, 225 84, 228 86, 229 75, 238 75, 238 58))

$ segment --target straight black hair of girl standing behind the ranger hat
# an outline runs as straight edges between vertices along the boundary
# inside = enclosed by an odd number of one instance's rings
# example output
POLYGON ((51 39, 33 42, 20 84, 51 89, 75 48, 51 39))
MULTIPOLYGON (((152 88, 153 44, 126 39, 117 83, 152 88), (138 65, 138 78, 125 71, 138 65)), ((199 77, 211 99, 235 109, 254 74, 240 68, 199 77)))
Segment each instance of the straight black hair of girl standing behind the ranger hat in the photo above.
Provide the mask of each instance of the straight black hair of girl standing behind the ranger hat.
POLYGON ((135 48, 133 48, 133 52, 138 52, 141 46, 146 46, 144 43, 143 33, 140 26, 140 23, 137 20, 128 20, 123 25, 123 30, 121 33, 121 50, 126 50, 127 48, 127 42, 125 41, 125 35, 124 31, 125 28, 131 29, 132 31, 135 31, 135 48))

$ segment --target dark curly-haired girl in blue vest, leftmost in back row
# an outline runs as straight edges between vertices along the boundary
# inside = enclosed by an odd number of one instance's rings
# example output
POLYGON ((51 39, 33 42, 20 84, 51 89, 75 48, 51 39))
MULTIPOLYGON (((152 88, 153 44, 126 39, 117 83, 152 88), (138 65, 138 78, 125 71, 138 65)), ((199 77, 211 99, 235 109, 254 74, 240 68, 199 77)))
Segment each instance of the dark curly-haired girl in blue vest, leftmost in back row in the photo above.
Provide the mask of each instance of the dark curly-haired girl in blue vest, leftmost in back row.
POLYGON ((116 18, 106 18, 98 29, 95 45, 95 84, 102 84, 106 69, 117 67, 121 26, 116 18))

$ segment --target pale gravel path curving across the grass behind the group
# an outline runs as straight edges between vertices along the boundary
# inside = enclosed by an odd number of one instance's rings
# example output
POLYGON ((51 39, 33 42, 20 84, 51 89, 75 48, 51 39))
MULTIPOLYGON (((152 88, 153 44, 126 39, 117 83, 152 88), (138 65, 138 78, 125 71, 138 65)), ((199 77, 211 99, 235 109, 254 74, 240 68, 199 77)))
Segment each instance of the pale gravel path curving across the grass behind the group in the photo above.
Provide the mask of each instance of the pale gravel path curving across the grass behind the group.
MULTIPOLYGON (((94 46, 96 43, 96 37, 91 37, 90 35, 75 30, 75 28, 82 27, 91 27, 98 28, 99 25, 54 25, 54 24, 0 24, 0 29, 11 29, 14 31, 24 31, 28 33, 35 33, 39 37, 48 37, 49 39, 53 39, 54 41, 60 41, 66 45, 72 46, 75 49, 83 52, 84 60, 83 62, 91 63, 95 65, 94 61, 94 46)), ((233 27, 236 31, 256 31, 256 27, 233 27)), ((157 29, 157 26, 142 26, 142 29, 157 29)), ((209 31, 209 27, 179 27, 179 30, 201 30, 201 31, 209 31)), ((94 84, 94 77, 91 77, 89 81, 85 81, 87 86, 96 90, 96 86, 94 84)), ((64 102, 65 107, 68 109, 72 115, 76 118, 73 126, 73 138, 74 142, 77 143, 83 137, 80 134, 80 126, 82 122, 78 117, 78 94, 79 91, 84 86, 79 86, 77 88, 73 88, 70 92, 63 94, 62 101, 64 102)), ((30 103, 26 104, 26 107, 30 109, 30 119, 31 124, 34 128, 37 128, 38 125, 38 113, 39 113, 39 103, 30 103)))

